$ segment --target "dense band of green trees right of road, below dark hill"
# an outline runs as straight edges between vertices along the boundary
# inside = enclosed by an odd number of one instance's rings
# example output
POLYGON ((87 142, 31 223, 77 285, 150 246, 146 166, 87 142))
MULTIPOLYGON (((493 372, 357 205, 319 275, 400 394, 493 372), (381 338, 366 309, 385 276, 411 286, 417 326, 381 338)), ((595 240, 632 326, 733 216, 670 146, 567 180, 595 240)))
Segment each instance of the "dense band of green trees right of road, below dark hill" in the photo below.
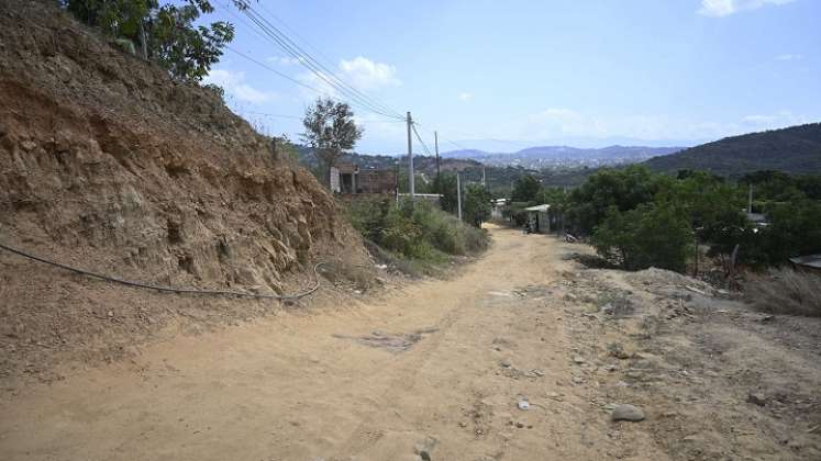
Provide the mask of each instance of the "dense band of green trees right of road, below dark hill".
MULTIPOLYGON (((647 216, 666 220, 657 223, 659 236, 681 248, 690 245, 678 234, 678 223, 667 215, 670 212, 687 224, 700 244, 710 245, 711 256, 730 255, 737 246, 739 262, 761 268, 821 252, 820 191, 821 176, 756 171, 731 182, 704 171, 683 170, 674 178, 633 166, 592 175, 563 206, 570 226, 592 234, 600 254, 623 267, 644 266, 647 258, 635 255, 657 254, 661 247, 650 247, 667 241, 653 239, 652 233, 642 234, 641 223, 647 216), (756 191, 755 210, 765 213, 766 226, 753 225, 743 212, 750 184, 756 191), (642 248, 644 245, 648 248, 642 248)), ((561 202, 561 196, 553 200, 561 202)), ((651 258, 655 266, 683 268, 677 251, 664 252, 663 258, 651 258)))

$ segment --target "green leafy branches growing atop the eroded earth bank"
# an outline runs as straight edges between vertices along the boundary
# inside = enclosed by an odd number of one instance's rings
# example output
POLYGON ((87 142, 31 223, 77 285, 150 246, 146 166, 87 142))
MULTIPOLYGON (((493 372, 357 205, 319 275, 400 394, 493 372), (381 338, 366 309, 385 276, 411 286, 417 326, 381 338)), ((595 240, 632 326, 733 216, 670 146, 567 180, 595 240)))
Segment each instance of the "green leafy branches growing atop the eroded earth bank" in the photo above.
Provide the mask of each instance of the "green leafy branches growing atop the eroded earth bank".
MULTIPOLYGON (((140 49, 180 80, 199 81, 234 38, 234 26, 219 21, 195 26, 213 12, 208 0, 160 5, 157 0, 58 0, 77 19, 115 38, 126 50, 140 49)), ((237 3, 237 2, 235 2, 237 3)))

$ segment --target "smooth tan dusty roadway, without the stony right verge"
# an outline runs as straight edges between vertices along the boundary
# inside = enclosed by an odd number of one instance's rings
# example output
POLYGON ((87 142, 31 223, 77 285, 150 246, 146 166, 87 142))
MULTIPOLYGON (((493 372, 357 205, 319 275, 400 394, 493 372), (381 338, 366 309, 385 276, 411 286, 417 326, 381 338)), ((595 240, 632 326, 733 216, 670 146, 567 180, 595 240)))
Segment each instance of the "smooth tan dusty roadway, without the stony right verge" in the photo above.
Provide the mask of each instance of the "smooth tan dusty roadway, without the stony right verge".
POLYGON ((562 244, 492 235, 454 280, 179 337, 2 402, 0 459, 664 459, 640 425, 608 437, 574 380, 562 244))

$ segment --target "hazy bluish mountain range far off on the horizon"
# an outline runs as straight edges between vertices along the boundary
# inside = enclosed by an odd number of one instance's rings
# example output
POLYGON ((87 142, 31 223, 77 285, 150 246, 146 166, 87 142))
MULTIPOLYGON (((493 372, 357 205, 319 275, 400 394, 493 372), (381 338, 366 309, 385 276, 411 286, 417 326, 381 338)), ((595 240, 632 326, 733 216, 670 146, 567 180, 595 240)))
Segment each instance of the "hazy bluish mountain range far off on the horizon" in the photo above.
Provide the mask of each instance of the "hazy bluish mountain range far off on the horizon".
POLYGON ((573 167, 602 167, 636 164, 653 157, 666 156, 684 147, 610 146, 578 148, 568 146, 539 146, 515 153, 488 153, 476 149, 451 150, 445 158, 473 159, 497 167, 519 166, 528 169, 573 167))

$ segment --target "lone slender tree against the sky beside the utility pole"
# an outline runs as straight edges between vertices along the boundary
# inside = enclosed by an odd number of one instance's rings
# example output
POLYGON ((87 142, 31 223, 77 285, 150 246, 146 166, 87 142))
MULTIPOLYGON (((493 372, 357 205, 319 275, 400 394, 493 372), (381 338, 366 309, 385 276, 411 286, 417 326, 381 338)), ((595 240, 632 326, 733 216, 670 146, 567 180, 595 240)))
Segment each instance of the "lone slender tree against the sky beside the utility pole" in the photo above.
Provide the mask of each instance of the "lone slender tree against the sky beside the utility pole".
POLYGON ((319 98, 306 111, 302 140, 313 150, 324 183, 330 185, 331 167, 362 137, 363 130, 354 122, 354 112, 344 102, 319 98))

